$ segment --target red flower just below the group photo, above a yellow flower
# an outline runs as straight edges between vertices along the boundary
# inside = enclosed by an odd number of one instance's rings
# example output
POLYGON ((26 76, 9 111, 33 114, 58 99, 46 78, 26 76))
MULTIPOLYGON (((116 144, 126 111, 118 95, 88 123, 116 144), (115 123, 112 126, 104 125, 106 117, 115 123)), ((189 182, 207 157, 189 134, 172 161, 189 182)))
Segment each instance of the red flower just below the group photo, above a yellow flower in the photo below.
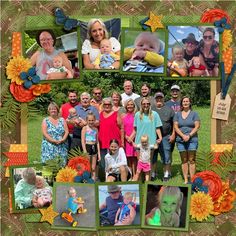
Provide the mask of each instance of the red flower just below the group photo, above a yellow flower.
POLYGON ((86 157, 73 157, 69 160, 67 166, 76 170, 78 175, 82 175, 84 171, 90 172, 90 162, 86 157))

